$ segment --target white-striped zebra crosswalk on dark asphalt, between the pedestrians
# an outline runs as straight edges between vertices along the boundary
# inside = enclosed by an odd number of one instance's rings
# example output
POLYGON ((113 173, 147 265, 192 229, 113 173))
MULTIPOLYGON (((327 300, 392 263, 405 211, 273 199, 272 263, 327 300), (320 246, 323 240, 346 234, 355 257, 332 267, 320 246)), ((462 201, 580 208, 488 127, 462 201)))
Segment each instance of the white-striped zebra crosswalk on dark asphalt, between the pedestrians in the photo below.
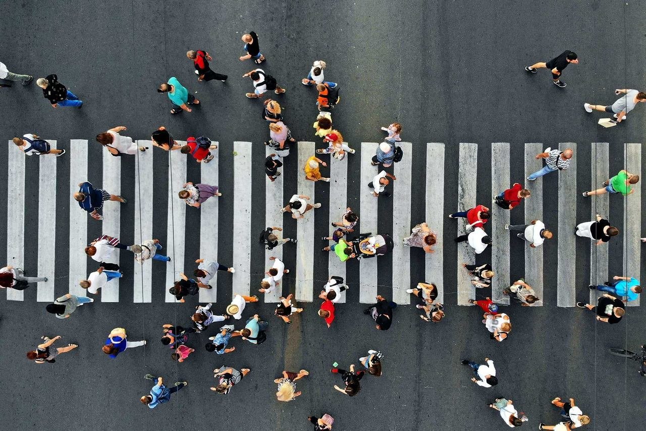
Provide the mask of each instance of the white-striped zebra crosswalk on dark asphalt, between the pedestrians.
MULTIPOLYGON (((25 231, 37 230, 37 250, 38 261, 37 271, 39 275, 49 277, 49 281, 38 283, 30 289, 37 290, 38 302, 50 302, 54 300, 56 294, 63 292, 54 291, 56 278, 67 278, 68 291, 74 294, 85 293, 84 289, 79 287, 79 280, 87 277, 88 272, 94 271, 94 264, 88 263, 85 255, 85 246, 94 238, 89 238, 87 214, 81 210, 78 203, 74 201, 72 192, 78 190, 78 184, 86 181, 89 175, 89 168, 92 164, 98 163, 98 160, 89 160, 87 140, 74 139, 68 144, 61 144, 61 141, 50 140, 53 148, 67 148, 69 157, 69 197, 65 202, 57 202, 56 190, 57 172, 62 165, 57 166, 56 157, 30 157, 27 159, 14 148, 8 148, 6 153, 8 159, 8 171, 6 172, 8 180, 8 197, 7 201, 11 202, 8 209, 8 221, 6 226, 6 256, 7 264, 14 267, 22 267, 25 261, 25 231), (25 169, 32 163, 39 164, 39 181, 37 184, 25 184, 25 169), (33 190, 37 187, 37 193, 33 190), (29 190, 37 194, 37 205, 26 201, 28 193, 21 191, 29 190), (26 204, 26 206, 25 206, 26 204), (57 206, 61 204, 69 205, 69 213, 63 219, 57 219, 60 211, 57 206), (25 208, 28 208, 26 211, 25 208), (37 216, 32 216, 37 210, 37 216), (25 217, 25 216, 28 217, 25 217), (60 263, 60 253, 54 252, 56 248, 56 227, 67 224, 69 227, 69 250, 67 254, 68 264, 60 263)), ((216 142, 214 142, 217 144, 216 142)), ((152 142, 147 140, 138 141, 138 145, 149 147, 149 151, 140 152, 134 155, 134 195, 129 198, 129 205, 134 206, 134 217, 132 220, 124 221, 124 215, 130 214, 124 212, 121 214, 119 203, 106 203, 103 214, 103 221, 96 223, 101 224, 101 232, 112 236, 122 236, 125 232, 134 234, 136 241, 138 239, 153 238, 153 193, 156 181, 163 179, 163 184, 167 187, 167 205, 168 219, 165 225, 167 239, 165 241, 163 252, 172 257, 172 261, 165 266, 165 302, 174 302, 174 296, 168 293, 175 280, 178 280, 180 272, 185 272, 187 276, 192 276, 193 269, 184 269, 182 267, 185 257, 194 261, 198 258, 205 260, 216 260, 218 258, 218 242, 228 241, 233 232, 233 261, 231 266, 236 272, 234 274, 221 273, 219 277, 224 278, 222 285, 231 289, 231 294, 255 294, 262 274, 252 273, 252 249, 257 249, 258 232, 252 232, 251 225, 254 221, 252 214, 252 202, 260 201, 266 208, 264 225, 282 227, 284 221, 290 214, 281 214, 280 208, 287 203, 287 200, 293 194, 307 195, 310 197, 309 203, 314 204, 320 201, 315 191, 315 183, 307 181, 302 174, 302 166, 305 165, 308 157, 315 153, 314 142, 298 142, 297 146, 292 149, 292 155, 297 159, 297 181, 296 184, 287 184, 285 175, 279 176, 275 182, 265 179, 264 188, 254 188, 252 181, 252 171, 261 170, 262 166, 255 167, 252 164, 253 154, 261 151, 262 144, 253 144, 252 142, 236 141, 233 143, 233 164, 229 166, 220 165, 218 159, 219 150, 213 151, 215 158, 209 164, 201 164, 201 182, 207 184, 219 184, 219 171, 226 169, 227 172, 233 172, 233 186, 231 190, 221 190, 222 199, 229 199, 233 203, 233 220, 227 223, 220 223, 227 227, 227 234, 219 232, 218 225, 218 201, 217 198, 209 201, 208 204, 198 208, 187 208, 187 205, 177 197, 179 190, 187 181, 187 164, 194 163, 192 159, 187 159, 186 155, 180 151, 170 151, 169 153, 153 149, 152 142), (295 154, 296 153, 296 154, 295 154), (154 159, 162 157, 169 161, 167 168, 167 179, 163 174, 154 173, 154 159), (167 184, 166 184, 167 181, 167 184), (186 242, 193 241, 193 238, 187 238, 185 235, 185 222, 187 211, 199 211, 201 214, 199 227, 191 229, 196 236, 199 236, 199 256, 188 256, 185 252, 186 242), (245 247, 245 245, 247 245, 245 247)), ((455 210, 465 210, 472 208, 477 203, 485 204, 492 208, 493 216, 486 225, 486 231, 492 236, 493 244, 491 247, 491 263, 496 272, 492 282, 491 296, 499 304, 509 304, 510 299, 504 295, 503 289, 510 285, 510 268, 514 266, 515 258, 510 252, 510 235, 504 229, 504 225, 510 222, 510 212, 498 208, 490 201, 476 202, 476 195, 485 192, 486 196, 495 195, 505 188, 508 188, 510 173, 517 177, 518 172, 512 170, 523 170, 524 177, 541 168, 541 160, 537 160, 535 155, 541 153, 545 144, 527 143, 524 144, 523 160, 510 160, 510 143, 493 142, 486 144, 490 148, 490 160, 488 153, 485 151, 483 156, 479 154, 479 149, 483 148, 481 144, 473 142, 460 142, 457 146, 451 145, 450 148, 458 151, 457 166, 447 166, 446 149, 448 146, 441 142, 430 142, 427 144, 415 144, 412 142, 400 142, 404 151, 404 159, 395 164, 393 173, 397 177, 391 186, 393 193, 393 210, 391 214, 378 214, 379 199, 370 195, 367 188, 368 182, 372 181, 377 173, 377 168, 371 165, 371 157, 377 148, 377 142, 362 142, 356 146, 357 153, 348 155, 344 160, 330 159, 327 168, 322 168, 324 176, 331 177, 329 184, 322 183, 329 195, 329 206, 324 205, 320 209, 307 212, 303 219, 299 219, 296 224, 296 232, 285 234, 297 238, 295 245, 296 263, 292 269, 295 280, 295 294, 298 301, 312 302, 318 296, 322 289, 324 280, 329 276, 337 275, 346 278, 347 263, 340 263, 335 254, 329 253, 328 272, 318 274, 315 272, 315 260, 324 256, 318 252, 320 237, 328 235, 330 232, 329 223, 340 221, 342 214, 347 206, 353 206, 353 210, 359 213, 360 232, 378 232, 378 221, 384 221, 382 217, 388 217, 392 221, 391 233, 395 247, 393 252, 379 258, 363 259, 359 261, 358 273, 359 280, 356 286, 351 288, 359 289, 359 301, 361 303, 373 302, 379 292, 383 292, 384 286, 390 289, 392 299, 398 304, 410 304, 410 294, 406 289, 414 287, 417 282, 433 282, 439 287, 439 301, 448 304, 468 305, 468 300, 475 297, 475 288, 470 282, 466 271, 462 268, 463 262, 485 263, 483 256, 475 256, 472 249, 466 243, 460 243, 457 246, 457 259, 446 253, 447 247, 451 249, 452 239, 455 235, 455 226, 451 227, 448 223, 446 228, 446 214, 455 212, 455 210), (415 157, 426 157, 426 171, 413 172, 412 160, 415 157), (355 157, 353 166, 359 166, 359 171, 349 170, 349 158, 355 157), (488 164, 491 164, 491 183, 490 190, 483 190, 483 185, 477 181, 478 170, 485 170, 488 175, 488 164), (457 170, 457 171, 456 171, 457 170), (358 180, 358 186, 354 184, 358 180), (423 185, 422 185, 423 184, 423 185), (447 185, 448 184, 448 185, 447 185), (349 205, 348 190, 350 187, 358 187, 358 204, 349 205), (424 187, 424 193, 422 192, 424 187), (327 189, 329 188, 329 189, 327 189), (444 195, 446 190, 453 188, 457 195, 457 208, 445 208, 444 195), (412 214, 413 199, 425 199, 424 212, 422 214, 412 214), (325 232, 315 232, 315 221, 323 220, 328 226, 325 232), (424 256, 424 274, 426 280, 413 280, 411 271, 412 253, 410 247, 402 245, 402 239, 410 234, 410 229, 426 221, 432 230, 437 232, 438 244, 434 247, 433 254, 424 256), (390 280, 381 280, 378 277, 380 261, 391 261, 392 275, 390 280), (444 285, 444 279, 457 279, 457 286, 444 285), (457 293, 457 295, 455 295, 457 293)), ((544 190, 543 180, 526 181, 525 186, 532 195, 526 199, 521 208, 514 210, 524 212, 525 221, 528 223, 532 219, 543 219, 543 203, 545 199, 557 200, 558 221, 557 226, 549 227, 555 233, 552 240, 557 243, 556 259, 556 287, 550 286, 549 289, 556 289, 556 304, 545 304, 543 301, 537 302, 535 306, 540 305, 557 305, 559 307, 574 307, 577 300, 581 300, 581 286, 576 285, 576 241, 581 239, 574 236, 574 227, 582 220, 577 219, 578 195, 583 190, 598 188, 599 184, 616 172, 611 172, 609 167, 609 143, 592 142, 589 144, 577 144, 574 142, 563 142, 559 148, 574 149, 575 156, 571 160, 570 168, 567 171, 552 173, 558 175, 557 190, 544 190), (578 157, 577 149, 586 147, 584 153, 590 150, 590 160, 587 157, 578 157), (578 171, 590 171, 591 181, 578 182, 578 177, 589 178, 586 175, 577 175, 578 171), (548 195, 545 193, 548 192, 548 195)), ((624 145, 625 153, 623 154, 623 166, 633 173, 641 173, 641 144, 629 143, 624 145)), ((262 150, 263 154, 268 155, 271 149, 262 150)), ((121 170, 125 165, 125 157, 112 157, 107 152, 103 153, 102 164, 102 183, 95 184, 104 188, 112 194, 120 194, 121 170)), ((260 160, 260 158, 258 158, 260 160)), ((286 167, 282 168, 283 170, 286 167)), ((482 175, 482 173, 481 173, 482 175)), ((67 178, 67 176, 63 176, 67 178)), ((489 186, 487 186, 489 187, 489 186)), ((591 197, 592 210, 590 219, 595 214, 609 214, 610 205, 620 204, 624 206, 624 217, 621 221, 612 221, 613 225, 620 227, 621 235, 616 239, 623 241, 623 268, 628 269, 628 276, 640 277, 640 243, 638 241, 641 228, 641 183, 634 186, 636 192, 628 198, 622 198, 618 195, 600 195, 591 197), (637 239, 637 241, 635 241, 637 239)), ((60 200, 60 199, 59 199, 60 200)), ((580 201, 580 200, 579 200, 580 201)), ((389 220, 390 221, 390 220, 389 220)), ((94 221, 92 221, 94 223, 94 221)), ((318 225, 318 223, 317 223, 318 225)), ((457 234, 464 233, 463 219, 457 220, 457 234)), ((359 231, 355 232, 359 234, 359 231)), ((603 283, 609 277, 609 247, 607 245, 596 247, 594 242, 590 241, 590 283, 603 283)), ((543 255, 545 247, 532 249, 525 247, 525 269, 524 275, 526 282, 530 283, 539 298, 543 299, 544 280, 543 273, 545 267, 543 263, 546 256, 543 255)), ((60 251, 60 250, 59 250, 60 251)), ((265 266, 269 264, 269 257, 276 256, 282 258, 283 247, 265 252, 265 266)), ((131 259, 129 252, 115 250, 113 261, 123 263, 124 260, 131 259)), ((195 265, 196 266, 196 265, 195 265)), ((418 272, 419 273, 419 272, 418 272)), ((610 274, 612 276, 613 274, 610 274)), ((218 275, 216 275, 218 277, 218 275)), ((291 274, 290 276, 291 277, 291 274)), ((153 274, 151 262, 147 261, 144 265, 134 265, 133 284, 125 286, 119 279, 111 280, 107 287, 101 292, 102 302, 134 302, 149 303, 153 300, 153 274), (132 293, 130 293, 132 289, 132 293)), ((211 282, 213 289, 200 289, 200 302, 218 301, 216 280, 211 282)), ((547 288, 547 287, 545 287, 547 288)), ((57 288, 58 289, 58 288, 57 288)), ((271 293, 261 295, 261 300, 265 302, 278 302, 281 289, 276 289, 271 293)), ((587 293, 586 293, 587 296, 587 293)), ((590 293, 590 300, 594 300, 596 293, 590 293)), ((21 301, 24 299, 23 291, 14 291, 7 289, 6 298, 8 300, 21 301)), ((158 298, 161 298, 158 296, 158 298)), ((342 302, 346 302, 346 294, 343 294, 342 302)), ((639 300, 629 303, 629 305, 638 305, 639 300)))

